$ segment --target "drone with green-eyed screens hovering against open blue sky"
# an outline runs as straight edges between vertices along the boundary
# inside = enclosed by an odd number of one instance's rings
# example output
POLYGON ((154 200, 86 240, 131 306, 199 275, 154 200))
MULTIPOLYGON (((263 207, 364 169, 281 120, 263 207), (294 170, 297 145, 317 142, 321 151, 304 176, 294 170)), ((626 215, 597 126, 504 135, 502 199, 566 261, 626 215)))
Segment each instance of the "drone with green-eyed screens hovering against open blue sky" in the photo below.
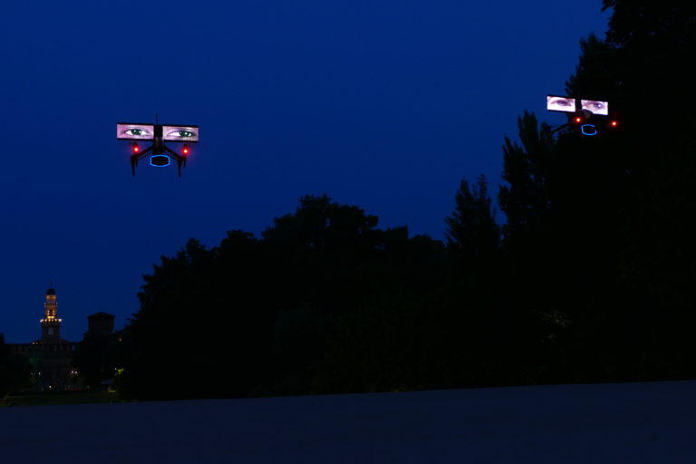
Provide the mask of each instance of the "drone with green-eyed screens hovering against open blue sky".
POLYGON ((181 177, 181 167, 186 167, 186 160, 189 158, 189 143, 198 142, 198 126, 160 124, 141 124, 140 122, 117 122, 117 140, 135 140, 132 142, 131 150, 131 171, 135 176, 135 168, 138 161, 145 157, 150 157, 150 166, 164 168, 171 164, 171 160, 177 161, 179 178, 181 177), (139 141, 152 142, 150 147, 140 150, 139 141), (164 144, 168 142, 185 142, 181 147, 181 152, 177 153, 169 149, 164 144))

